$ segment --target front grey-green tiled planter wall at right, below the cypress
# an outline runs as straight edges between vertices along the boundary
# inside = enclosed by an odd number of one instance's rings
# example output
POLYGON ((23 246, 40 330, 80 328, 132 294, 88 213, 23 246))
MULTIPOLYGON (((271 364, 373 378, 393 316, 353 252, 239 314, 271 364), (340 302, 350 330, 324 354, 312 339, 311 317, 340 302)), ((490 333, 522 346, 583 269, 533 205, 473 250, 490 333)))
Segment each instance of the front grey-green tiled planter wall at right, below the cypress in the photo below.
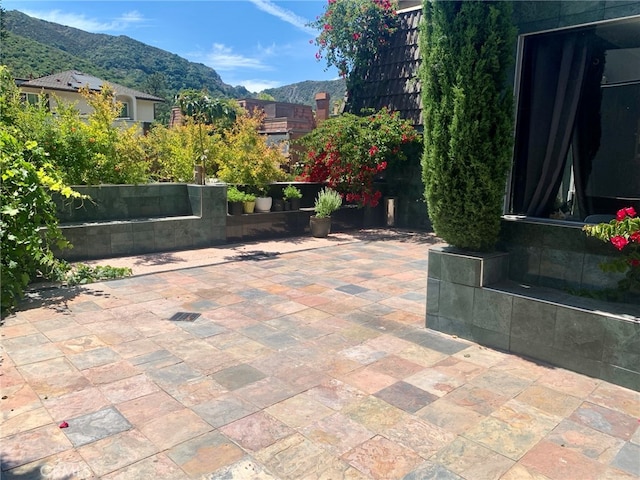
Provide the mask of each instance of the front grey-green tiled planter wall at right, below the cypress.
POLYGON ((426 326, 640 391, 640 306, 514 282, 516 255, 431 249, 426 326))

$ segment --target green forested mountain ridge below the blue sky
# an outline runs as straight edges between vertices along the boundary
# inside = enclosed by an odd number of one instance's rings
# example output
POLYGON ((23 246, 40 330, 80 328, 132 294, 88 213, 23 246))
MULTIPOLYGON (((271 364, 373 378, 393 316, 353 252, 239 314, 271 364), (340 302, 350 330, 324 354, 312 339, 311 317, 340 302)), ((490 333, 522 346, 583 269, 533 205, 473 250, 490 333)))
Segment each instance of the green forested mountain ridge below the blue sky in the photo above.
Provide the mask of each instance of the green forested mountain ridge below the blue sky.
MULTIPOLYGON (((17 78, 37 78, 53 72, 79 70, 109 82, 167 100, 180 90, 206 90, 220 98, 255 97, 245 87, 231 86, 202 63, 152 47, 125 35, 89 33, 0 9, 0 63, 17 78)), ((261 92, 279 102, 315 107, 315 94, 344 97, 344 80, 305 81, 261 92)))

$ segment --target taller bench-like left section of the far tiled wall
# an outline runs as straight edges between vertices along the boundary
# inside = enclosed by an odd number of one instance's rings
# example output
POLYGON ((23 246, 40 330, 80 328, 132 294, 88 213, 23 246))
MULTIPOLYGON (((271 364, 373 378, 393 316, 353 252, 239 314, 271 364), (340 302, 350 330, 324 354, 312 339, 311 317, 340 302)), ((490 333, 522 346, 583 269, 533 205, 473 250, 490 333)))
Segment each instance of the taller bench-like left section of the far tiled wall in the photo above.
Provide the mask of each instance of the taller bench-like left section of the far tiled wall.
POLYGON ((91 200, 56 199, 69 261, 166 252, 226 242, 225 185, 100 185, 74 189, 91 200))

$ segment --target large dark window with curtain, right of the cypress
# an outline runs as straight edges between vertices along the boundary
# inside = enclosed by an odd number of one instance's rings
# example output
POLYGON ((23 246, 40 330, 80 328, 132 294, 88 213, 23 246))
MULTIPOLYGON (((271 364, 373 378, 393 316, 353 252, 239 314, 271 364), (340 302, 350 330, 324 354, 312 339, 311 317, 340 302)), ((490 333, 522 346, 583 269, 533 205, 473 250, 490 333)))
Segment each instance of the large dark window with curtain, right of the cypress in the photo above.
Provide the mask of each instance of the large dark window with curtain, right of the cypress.
POLYGON ((524 37, 509 213, 640 209, 640 17, 524 37))

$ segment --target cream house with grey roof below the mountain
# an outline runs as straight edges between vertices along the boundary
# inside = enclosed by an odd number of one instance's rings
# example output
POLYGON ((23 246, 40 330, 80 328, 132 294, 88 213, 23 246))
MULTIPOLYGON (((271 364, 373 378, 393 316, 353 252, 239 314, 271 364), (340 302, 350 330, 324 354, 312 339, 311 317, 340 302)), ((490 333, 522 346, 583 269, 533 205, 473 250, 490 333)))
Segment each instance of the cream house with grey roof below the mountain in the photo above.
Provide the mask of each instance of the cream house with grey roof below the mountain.
POLYGON ((82 115, 88 115, 91 107, 80 95, 80 89, 88 86, 92 91, 100 91, 106 83, 115 91, 116 100, 122 103, 120 119, 126 123, 141 124, 146 130, 155 119, 155 105, 164 101, 160 97, 75 70, 29 80, 16 80, 27 101, 35 102, 38 95, 45 94, 52 111, 55 111, 57 101, 64 101, 74 103, 82 115))

